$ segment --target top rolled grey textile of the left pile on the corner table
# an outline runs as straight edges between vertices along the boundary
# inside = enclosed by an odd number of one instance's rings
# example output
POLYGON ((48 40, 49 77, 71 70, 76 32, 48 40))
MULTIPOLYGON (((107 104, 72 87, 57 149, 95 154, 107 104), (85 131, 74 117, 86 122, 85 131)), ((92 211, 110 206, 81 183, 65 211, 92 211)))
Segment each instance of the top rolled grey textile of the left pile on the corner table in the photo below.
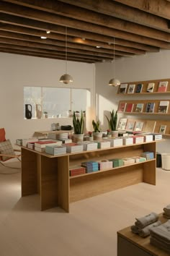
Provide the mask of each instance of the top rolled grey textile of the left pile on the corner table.
POLYGON ((135 226, 138 226, 139 229, 145 228, 145 226, 148 226, 149 224, 158 221, 158 214, 157 213, 149 213, 148 215, 141 217, 141 218, 135 218, 135 226))

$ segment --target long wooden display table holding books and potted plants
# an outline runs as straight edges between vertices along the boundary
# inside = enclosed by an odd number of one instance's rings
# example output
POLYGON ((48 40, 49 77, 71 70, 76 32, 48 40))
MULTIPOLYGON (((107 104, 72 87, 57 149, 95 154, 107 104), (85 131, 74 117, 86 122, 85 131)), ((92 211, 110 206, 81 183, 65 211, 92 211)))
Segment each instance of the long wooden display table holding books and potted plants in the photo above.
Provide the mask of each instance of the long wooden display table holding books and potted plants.
POLYGON ((39 193, 41 210, 60 206, 69 212, 70 202, 139 182, 156 184, 155 141, 55 156, 22 147, 22 196, 39 193), (75 165, 80 166, 81 162, 125 158, 146 151, 153 152, 155 158, 128 166, 69 176, 69 169, 75 165))

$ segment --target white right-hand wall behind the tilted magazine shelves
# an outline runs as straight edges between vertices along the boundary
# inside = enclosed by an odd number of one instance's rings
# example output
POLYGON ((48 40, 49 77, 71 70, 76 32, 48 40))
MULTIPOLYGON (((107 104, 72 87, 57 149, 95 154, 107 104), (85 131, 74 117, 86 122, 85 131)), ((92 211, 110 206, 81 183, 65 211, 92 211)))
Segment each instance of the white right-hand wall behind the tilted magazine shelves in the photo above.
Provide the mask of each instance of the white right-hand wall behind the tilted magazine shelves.
MULTIPOLYGON (((111 78, 115 77, 120 82, 135 82, 145 80, 159 80, 170 78, 170 51, 160 51, 158 53, 145 54, 143 56, 125 57, 115 61, 116 77, 113 74, 112 63, 96 64, 96 95, 97 95, 97 114, 102 123, 102 129, 108 129, 104 114, 112 109, 117 109, 120 100, 125 100, 125 96, 117 95, 117 88, 108 86, 111 78)), ((134 95, 128 96, 127 100, 133 100, 134 95)), ((167 99, 169 95, 135 95, 138 99, 167 99)), ((118 115, 120 117, 120 114, 118 115)), ((134 116, 135 117, 135 116, 134 116)), ((143 115, 143 119, 147 119, 143 115)), ((149 116, 152 119, 167 119, 167 116, 149 116)), ((169 117, 168 117, 169 118, 169 117)), ((170 120, 170 118, 169 118, 170 120)), ((159 152, 170 152, 169 140, 157 144, 159 152)))

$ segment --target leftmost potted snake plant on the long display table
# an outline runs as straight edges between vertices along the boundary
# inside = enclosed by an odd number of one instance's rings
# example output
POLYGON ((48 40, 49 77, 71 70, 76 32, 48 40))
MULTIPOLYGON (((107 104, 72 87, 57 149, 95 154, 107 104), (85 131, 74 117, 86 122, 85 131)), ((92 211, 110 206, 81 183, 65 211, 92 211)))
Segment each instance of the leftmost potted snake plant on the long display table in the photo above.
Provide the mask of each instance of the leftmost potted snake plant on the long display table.
POLYGON ((76 116, 76 111, 73 111, 73 141, 78 142, 82 141, 84 138, 84 115, 83 111, 81 111, 80 116, 76 116))

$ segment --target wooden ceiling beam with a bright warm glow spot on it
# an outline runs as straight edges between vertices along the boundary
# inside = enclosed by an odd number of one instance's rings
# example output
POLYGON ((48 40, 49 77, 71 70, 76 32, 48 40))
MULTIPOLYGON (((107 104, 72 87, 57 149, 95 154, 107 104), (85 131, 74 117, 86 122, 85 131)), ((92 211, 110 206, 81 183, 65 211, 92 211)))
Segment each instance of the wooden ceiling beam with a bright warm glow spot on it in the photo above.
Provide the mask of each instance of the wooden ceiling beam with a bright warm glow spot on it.
MULTIPOLYGON (((28 28, 28 27, 19 27, 19 26, 14 26, 14 25, 9 25, 9 24, 6 24, 6 25, 1 25, 0 24, 0 30, 7 31, 7 32, 12 32, 12 33, 17 33, 18 35, 19 35, 19 33, 24 34, 24 35, 35 35, 39 38, 40 38, 40 36, 45 35, 48 38, 53 39, 53 40, 62 40, 62 41, 66 40, 66 35, 63 35, 63 34, 50 33, 50 34, 47 35, 47 33, 43 30, 40 31, 40 30, 35 30, 35 29, 32 29, 32 28, 28 28)), ((76 37, 67 35, 67 41, 71 42, 71 43, 78 43, 80 45, 83 44, 83 45, 87 45, 87 46, 100 46, 102 48, 107 48, 109 50, 114 50, 114 45, 113 44, 103 43, 103 42, 97 41, 97 40, 88 40, 88 39, 81 40, 81 38, 76 38, 76 37)), ((127 47, 127 46, 120 46, 120 45, 117 45, 117 44, 115 44, 115 50, 130 52, 132 54, 146 54, 146 51, 136 49, 136 48, 132 48, 132 47, 127 47)))

